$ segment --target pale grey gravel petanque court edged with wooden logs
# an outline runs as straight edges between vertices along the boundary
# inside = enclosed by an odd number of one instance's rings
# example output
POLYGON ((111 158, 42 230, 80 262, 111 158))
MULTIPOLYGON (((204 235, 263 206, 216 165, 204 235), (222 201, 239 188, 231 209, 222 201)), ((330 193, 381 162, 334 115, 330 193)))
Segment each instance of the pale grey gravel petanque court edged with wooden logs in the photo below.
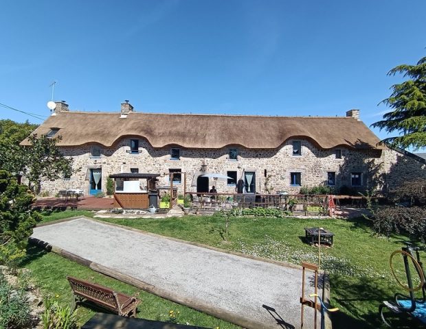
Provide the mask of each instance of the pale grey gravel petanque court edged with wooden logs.
MULTIPOLYGON (((300 328, 300 267, 84 217, 37 227, 32 238, 96 271, 244 328, 300 328)), ((306 289, 313 293, 309 284, 306 289)), ((304 328, 313 328, 308 307, 304 328)))

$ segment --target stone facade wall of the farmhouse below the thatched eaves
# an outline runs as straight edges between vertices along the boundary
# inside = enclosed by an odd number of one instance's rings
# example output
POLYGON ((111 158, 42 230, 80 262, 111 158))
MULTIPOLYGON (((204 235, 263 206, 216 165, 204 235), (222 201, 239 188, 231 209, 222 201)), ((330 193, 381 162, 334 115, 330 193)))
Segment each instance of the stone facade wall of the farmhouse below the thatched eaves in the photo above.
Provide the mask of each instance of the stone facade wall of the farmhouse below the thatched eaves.
MULTIPOLYGON (((296 141, 296 140, 294 140, 296 141)), ((169 169, 181 169, 186 173, 187 191, 197 191, 197 177, 203 173, 222 173, 236 171, 237 179, 243 171, 256 173, 256 192, 265 193, 265 180, 269 178, 269 188, 273 193, 287 191, 298 193, 300 186, 291 186, 291 173, 301 173, 302 186, 326 184, 327 173, 335 172, 336 187, 351 186, 351 173, 361 173, 361 186, 366 188, 389 188, 401 180, 425 177, 426 166, 396 151, 359 151, 344 147, 341 159, 336 158, 336 149, 319 149, 313 143, 301 141, 302 154, 293 156, 293 140, 289 140, 277 149, 245 149, 242 147, 224 147, 222 149, 185 149, 180 148, 180 159, 170 159, 170 148, 153 148, 148 141, 139 139, 139 154, 130 153, 130 138, 124 138, 110 148, 102 147, 102 156, 91 157, 92 145, 81 147, 63 147, 63 154, 74 158, 76 173, 69 180, 43 182, 42 191, 54 195, 64 188, 82 188, 89 193, 89 169, 102 169, 102 189, 106 190, 106 178, 112 173, 130 172, 132 168, 139 173, 159 173, 159 184, 168 186, 169 169), (229 160, 229 148, 238 149, 237 160, 229 160), (206 164, 205 172, 201 164, 206 164)), ((210 180, 210 187, 216 184, 218 192, 234 193, 234 184, 226 180, 210 180)), ((183 177, 177 184, 179 193, 183 192, 183 177)))

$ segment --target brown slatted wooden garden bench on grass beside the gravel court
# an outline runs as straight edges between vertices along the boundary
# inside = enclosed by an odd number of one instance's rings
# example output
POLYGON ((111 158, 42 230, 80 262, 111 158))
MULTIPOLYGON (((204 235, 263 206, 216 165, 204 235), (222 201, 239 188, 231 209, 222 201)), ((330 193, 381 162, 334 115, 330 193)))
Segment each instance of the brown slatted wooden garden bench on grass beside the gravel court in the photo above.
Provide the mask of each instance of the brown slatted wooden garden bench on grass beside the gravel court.
POLYGON ((135 317, 137 304, 140 302, 136 297, 117 293, 117 291, 113 291, 100 284, 80 280, 71 276, 67 276, 67 280, 74 293, 72 310, 76 308, 77 304, 92 302, 123 317, 135 317))

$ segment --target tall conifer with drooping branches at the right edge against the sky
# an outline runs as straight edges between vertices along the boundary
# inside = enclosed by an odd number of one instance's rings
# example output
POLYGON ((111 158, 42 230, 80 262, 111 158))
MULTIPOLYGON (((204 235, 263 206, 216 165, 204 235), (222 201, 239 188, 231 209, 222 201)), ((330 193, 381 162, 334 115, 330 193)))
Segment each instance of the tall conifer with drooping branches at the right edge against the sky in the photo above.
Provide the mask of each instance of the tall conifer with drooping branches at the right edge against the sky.
POLYGON ((393 147, 426 147, 426 57, 416 65, 399 65, 388 75, 403 74, 410 79, 392 86, 392 95, 382 102, 392 108, 383 115, 383 120, 373 123, 386 132, 397 132, 399 136, 383 139, 393 147))

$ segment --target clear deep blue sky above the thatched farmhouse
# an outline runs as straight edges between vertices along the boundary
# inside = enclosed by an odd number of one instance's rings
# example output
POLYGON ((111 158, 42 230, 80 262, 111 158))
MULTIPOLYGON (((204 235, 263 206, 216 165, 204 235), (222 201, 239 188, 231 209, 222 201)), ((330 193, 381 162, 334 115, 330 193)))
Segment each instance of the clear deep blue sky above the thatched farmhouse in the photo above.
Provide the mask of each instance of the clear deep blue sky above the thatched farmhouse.
MULTIPOLYGON (((367 124, 426 56, 426 1, 3 1, 0 103, 71 110, 344 116, 367 124)), ((0 108, 0 119, 40 120, 0 108)), ((379 137, 384 132, 374 130, 379 137)))

